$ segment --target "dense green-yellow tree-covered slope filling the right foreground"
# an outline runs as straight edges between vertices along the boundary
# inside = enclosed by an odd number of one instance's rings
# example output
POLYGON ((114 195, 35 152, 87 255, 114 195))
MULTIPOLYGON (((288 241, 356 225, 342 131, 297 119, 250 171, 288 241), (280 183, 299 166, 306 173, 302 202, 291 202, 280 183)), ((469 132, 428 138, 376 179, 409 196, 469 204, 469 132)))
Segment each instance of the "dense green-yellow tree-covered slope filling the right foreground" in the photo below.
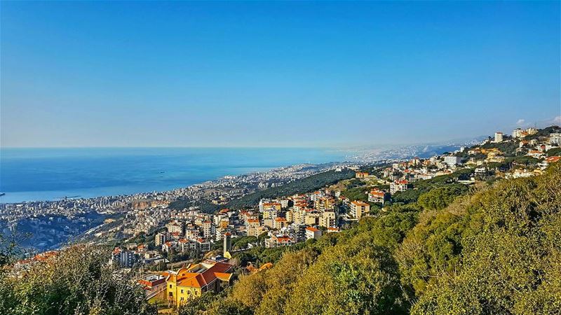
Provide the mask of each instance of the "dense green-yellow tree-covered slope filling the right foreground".
POLYGON ((561 165, 452 203, 442 187, 285 251, 183 314, 559 314, 561 165))

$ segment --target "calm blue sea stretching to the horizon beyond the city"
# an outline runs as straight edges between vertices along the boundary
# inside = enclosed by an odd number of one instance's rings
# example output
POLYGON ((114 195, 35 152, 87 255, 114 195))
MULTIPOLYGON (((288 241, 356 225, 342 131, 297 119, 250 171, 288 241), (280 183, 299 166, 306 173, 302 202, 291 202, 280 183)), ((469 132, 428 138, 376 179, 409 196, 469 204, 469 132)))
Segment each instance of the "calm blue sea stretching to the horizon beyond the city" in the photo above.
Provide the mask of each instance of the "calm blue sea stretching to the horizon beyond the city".
POLYGON ((0 203, 173 190, 345 158, 330 148, 0 148, 0 203))

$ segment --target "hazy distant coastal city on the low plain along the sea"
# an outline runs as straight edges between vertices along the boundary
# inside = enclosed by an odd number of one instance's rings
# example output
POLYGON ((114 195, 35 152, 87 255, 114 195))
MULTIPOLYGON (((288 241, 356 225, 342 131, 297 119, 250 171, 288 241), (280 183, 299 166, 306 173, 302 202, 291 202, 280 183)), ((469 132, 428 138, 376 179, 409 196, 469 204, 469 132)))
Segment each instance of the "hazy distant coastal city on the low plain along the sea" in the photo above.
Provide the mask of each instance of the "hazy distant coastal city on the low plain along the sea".
POLYGON ((97 230, 107 228, 107 223, 111 223, 109 226, 123 223, 122 237, 126 237, 137 232, 148 232, 162 224, 168 217, 165 211, 158 209, 165 209, 168 204, 178 200, 182 201, 178 202, 180 207, 193 206, 205 211, 215 211, 221 204, 248 193, 282 186, 334 168, 337 165, 292 165, 267 172, 224 176, 215 181, 163 192, 0 203, 0 231, 8 235, 15 231, 33 232, 32 239, 27 239, 24 244, 34 244, 39 251, 57 248, 80 235, 96 235, 97 230), (150 212, 149 218, 133 230, 126 228, 137 226, 133 217, 125 216, 131 210, 150 212))

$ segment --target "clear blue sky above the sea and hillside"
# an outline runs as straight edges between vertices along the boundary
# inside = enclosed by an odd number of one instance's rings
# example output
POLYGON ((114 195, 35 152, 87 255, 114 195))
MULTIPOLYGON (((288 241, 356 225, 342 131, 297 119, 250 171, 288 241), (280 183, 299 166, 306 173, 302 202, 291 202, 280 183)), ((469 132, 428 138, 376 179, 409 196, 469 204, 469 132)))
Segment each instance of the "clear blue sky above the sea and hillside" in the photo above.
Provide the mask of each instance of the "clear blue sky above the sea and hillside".
POLYGON ((1 1, 1 146, 376 146, 561 119, 558 1, 1 1))

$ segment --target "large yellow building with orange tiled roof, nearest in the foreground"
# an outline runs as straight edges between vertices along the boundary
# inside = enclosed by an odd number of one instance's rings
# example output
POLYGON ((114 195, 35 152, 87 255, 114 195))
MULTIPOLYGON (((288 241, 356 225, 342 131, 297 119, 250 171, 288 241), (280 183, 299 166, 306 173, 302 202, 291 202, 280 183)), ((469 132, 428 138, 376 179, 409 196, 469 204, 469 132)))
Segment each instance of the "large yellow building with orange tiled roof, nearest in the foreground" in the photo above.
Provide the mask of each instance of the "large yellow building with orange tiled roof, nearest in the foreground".
POLYGON ((177 272, 164 272, 168 301, 180 305, 207 291, 219 292, 228 286, 233 272, 232 265, 224 262, 189 264, 177 272))

